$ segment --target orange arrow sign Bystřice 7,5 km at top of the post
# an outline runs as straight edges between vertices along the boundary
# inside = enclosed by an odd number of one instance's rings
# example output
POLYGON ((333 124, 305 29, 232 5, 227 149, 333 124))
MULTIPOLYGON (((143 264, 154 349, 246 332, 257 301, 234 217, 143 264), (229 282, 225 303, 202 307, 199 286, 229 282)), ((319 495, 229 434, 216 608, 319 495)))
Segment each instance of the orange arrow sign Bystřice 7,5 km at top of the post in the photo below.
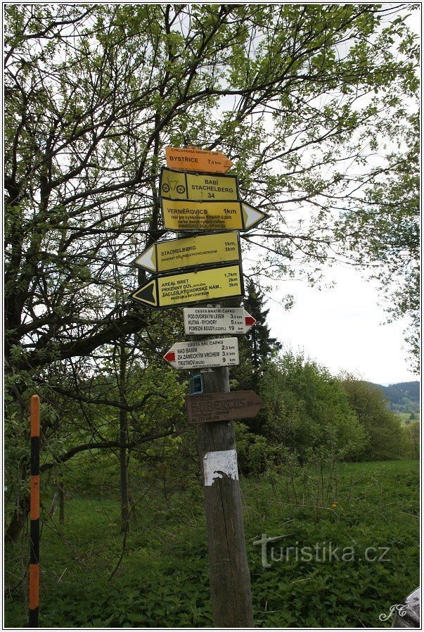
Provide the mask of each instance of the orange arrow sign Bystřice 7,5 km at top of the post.
POLYGON ((225 173, 233 163, 221 151, 198 147, 167 147, 167 165, 184 171, 225 173))

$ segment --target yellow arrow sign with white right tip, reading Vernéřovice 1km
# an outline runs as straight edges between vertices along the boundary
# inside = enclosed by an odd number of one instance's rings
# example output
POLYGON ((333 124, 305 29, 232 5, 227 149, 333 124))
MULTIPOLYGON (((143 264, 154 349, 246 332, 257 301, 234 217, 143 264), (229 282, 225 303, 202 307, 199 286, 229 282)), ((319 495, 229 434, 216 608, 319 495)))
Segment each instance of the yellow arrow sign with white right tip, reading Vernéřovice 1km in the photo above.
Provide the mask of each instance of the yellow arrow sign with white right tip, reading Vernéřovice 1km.
POLYGON ((181 201, 161 198, 163 225, 175 231, 249 230, 268 215, 240 200, 181 201))

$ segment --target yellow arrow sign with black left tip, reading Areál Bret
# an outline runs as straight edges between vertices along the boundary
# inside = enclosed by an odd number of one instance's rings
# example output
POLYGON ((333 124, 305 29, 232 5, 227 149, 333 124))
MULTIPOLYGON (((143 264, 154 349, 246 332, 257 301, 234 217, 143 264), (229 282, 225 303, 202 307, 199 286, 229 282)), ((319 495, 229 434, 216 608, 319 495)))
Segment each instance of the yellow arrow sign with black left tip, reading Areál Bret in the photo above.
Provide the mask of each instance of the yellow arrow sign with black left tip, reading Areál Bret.
POLYGON ((130 294, 133 301, 148 305, 153 310, 240 296, 244 296, 241 265, 224 265, 197 272, 153 277, 130 294))

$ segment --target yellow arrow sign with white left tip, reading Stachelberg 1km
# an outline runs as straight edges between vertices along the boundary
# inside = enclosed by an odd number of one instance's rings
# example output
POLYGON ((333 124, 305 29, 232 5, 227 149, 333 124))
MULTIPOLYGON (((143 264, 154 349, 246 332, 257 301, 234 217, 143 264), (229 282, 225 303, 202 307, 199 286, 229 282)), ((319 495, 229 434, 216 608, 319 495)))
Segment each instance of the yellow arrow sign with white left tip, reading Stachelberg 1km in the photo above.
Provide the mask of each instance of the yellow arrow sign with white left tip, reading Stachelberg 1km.
POLYGON ((167 272, 240 260, 240 239, 238 232, 234 231, 157 241, 141 253, 134 263, 150 272, 167 272))

